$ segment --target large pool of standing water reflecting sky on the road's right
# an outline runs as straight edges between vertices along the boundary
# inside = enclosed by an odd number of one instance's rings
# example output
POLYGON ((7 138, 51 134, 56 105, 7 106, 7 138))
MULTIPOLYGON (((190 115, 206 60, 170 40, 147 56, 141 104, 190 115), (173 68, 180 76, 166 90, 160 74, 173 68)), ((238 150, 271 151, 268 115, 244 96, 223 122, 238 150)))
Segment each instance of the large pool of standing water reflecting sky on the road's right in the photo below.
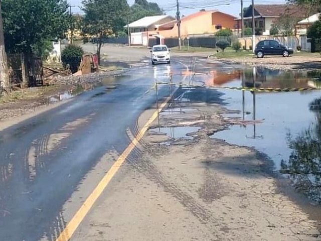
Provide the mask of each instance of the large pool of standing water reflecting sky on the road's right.
MULTIPOLYGON (((310 88, 320 85, 319 73, 253 68, 239 71, 220 86, 310 88)), ((215 78, 214 78, 215 84, 215 78)), ((217 86, 217 84, 215 84, 217 86)), ((250 92, 221 90, 232 125, 214 138, 254 147, 267 154, 275 168, 290 175, 295 188, 321 202, 321 90, 250 92)))

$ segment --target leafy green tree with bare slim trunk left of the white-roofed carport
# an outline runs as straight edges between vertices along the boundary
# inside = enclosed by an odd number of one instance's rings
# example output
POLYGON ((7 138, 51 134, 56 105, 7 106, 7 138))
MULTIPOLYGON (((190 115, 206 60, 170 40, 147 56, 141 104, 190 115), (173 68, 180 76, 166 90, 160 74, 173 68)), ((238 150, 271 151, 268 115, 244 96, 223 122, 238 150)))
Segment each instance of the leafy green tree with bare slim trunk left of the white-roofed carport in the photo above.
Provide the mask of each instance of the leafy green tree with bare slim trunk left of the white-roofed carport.
POLYGON ((123 30, 128 4, 126 0, 84 0, 82 31, 96 38, 98 63, 104 39, 123 30))

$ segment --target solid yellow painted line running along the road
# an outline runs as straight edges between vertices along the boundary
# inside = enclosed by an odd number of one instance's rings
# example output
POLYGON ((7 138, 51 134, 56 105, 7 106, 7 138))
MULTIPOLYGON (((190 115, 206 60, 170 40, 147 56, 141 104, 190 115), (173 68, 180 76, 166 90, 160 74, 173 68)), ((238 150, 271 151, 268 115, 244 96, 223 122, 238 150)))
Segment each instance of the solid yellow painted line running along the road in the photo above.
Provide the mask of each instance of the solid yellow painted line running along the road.
MULTIPOLYGON (((169 96, 162 104, 159 106, 159 112, 162 111, 167 103, 170 101, 172 96, 169 96)), ((125 151, 120 155, 118 160, 112 165, 112 167, 109 169, 107 174, 103 177, 103 179, 98 183, 98 185, 95 187, 93 192, 89 195, 89 197, 86 199, 86 201, 82 204, 80 209, 76 212, 76 214, 73 216, 73 218, 70 220, 70 222, 67 224, 66 228, 60 233, 59 237, 56 239, 56 241, 68 241, 73 233, 76 231, 77 227, 81 223, 81 221, 84 219, 84 217, 89 212, 90 208, 94 205, 95 201, 98 199, 98 197, 101 195, 101 193, 104 191, 110 180, 113 178, 113 176, 116 174, 120 166, 124 163, 126 158, 129 156, 131 151, 137 146, 140 139, 144 136, 146 131, 148 130, 149 126, 155 121, 155 119, 158 116, 158 111, 156 110, 151 117, 148 119, 147 123, 143 126, 143 128, 140 130, 140 132, 137 134, 137 136, 132 140, 132 142, 129 144, 129 146, 125 149, 125 151)))

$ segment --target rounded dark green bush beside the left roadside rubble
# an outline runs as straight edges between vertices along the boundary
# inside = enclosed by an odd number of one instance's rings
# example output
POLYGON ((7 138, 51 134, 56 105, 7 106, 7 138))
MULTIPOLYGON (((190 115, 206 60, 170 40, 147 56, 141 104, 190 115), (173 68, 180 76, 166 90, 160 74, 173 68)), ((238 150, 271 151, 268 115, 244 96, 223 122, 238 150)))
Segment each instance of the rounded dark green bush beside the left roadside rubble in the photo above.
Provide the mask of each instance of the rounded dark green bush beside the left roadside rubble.
POLYGON ((77 45, 68 45, 61 53, 61 61, 65 69, 68 67, 72 73, 78 71, 81 58, 84 51, 81 47, 77 45))

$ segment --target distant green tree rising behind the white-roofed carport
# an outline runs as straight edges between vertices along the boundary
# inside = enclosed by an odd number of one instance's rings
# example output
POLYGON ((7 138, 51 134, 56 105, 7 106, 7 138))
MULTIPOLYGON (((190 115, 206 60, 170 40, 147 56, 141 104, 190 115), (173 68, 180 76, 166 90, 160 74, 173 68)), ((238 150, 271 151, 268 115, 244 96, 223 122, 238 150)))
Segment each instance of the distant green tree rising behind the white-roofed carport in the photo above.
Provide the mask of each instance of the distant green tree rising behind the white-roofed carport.
POLYGON ((164 11, 156 3, 148 3, 146 0, 135 0, 135 4, 130 7, 129 22, 147 16, 163 15, 164 11))

